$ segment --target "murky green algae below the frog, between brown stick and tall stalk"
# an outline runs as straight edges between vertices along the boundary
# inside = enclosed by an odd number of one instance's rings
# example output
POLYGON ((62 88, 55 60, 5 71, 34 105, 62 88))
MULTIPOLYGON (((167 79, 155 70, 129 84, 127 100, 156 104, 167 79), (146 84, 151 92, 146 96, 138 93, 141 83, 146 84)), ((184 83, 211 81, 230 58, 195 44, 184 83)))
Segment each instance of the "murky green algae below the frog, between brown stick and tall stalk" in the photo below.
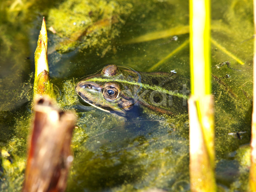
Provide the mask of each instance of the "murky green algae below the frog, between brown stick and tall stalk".
POLYGON ((73 170, 77 171, 70 173, 69 191, 84 188, 119 191, 127 186, 133 186, 133 190, 149 187, 171 190, 185 187, 184 183, 188 189, 188 175, 183 174, 188 174, 188 166, 184 166, 188 143, 178 137, 180 131, 173 131, 174 124, 164 119, 159 122, 157 116, 155 120, 151 116, 143 122, 141 119, 127 122, 122 117, 96 111, 79 115, 82 120, 75 133, 85 132, 86 140, 80 140, 83 142, 80 148, 75 147, 77 140, 73 143, 77 157, 73 170), (180 180, 186 182, 178 183, 180 180))

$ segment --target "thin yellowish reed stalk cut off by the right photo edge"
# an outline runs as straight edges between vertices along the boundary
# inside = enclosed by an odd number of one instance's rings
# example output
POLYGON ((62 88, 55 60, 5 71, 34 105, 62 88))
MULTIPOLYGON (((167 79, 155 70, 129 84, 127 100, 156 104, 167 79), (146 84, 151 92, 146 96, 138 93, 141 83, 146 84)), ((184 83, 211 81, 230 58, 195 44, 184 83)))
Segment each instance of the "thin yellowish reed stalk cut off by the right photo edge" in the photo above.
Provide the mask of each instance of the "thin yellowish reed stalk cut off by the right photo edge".
POLYGON ((254 49, 253 49, 253 114, 251 135, 251 167, 249 191, 256 191, 256 0, 253 0, 254 14, 254 49))

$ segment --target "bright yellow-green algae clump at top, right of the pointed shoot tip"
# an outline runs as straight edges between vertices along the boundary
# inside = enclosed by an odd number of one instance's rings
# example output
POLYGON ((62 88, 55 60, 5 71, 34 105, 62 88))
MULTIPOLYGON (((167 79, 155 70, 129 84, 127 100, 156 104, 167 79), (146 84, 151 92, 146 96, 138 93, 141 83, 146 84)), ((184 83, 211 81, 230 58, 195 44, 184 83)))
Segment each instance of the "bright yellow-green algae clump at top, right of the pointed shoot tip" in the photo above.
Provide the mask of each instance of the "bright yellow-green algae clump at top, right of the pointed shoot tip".
POLYGON ((69 52, 78 47, 90 52, 96 49, 104 56, 111 41, 119 36, 132 7, 128 1, 65 1, 49 11, 49 25, 62 38, 56 50, 69 52))

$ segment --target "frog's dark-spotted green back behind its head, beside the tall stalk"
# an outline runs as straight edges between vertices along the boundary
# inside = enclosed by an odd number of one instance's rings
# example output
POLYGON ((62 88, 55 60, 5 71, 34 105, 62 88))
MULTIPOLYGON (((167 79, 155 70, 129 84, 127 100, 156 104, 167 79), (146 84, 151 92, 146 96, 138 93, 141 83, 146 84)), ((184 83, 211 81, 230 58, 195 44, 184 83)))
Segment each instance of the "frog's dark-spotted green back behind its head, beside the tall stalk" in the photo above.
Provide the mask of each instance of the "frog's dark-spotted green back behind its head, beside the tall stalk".
POLYGON ((189 87, 185 78, 175 71, 139 73, 145 84, 145 89, 140 91, 140 105, 157 113, 177 115, 187 112, 189 87))

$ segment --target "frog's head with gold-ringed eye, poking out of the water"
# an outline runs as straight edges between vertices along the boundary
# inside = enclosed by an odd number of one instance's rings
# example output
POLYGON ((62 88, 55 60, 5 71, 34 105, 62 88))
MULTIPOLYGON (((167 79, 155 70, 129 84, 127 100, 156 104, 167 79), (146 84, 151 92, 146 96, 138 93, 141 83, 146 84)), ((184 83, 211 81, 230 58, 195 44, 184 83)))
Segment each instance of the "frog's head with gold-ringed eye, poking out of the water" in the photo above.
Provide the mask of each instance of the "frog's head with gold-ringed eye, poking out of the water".
POLYGON ((133 87, 124 83, 137 80, 138 74, 128 68, 108 65, 101 73, 87 77, 76 85, 76 93, 84 102, 102 111, 125 116, 134 107, 133 87))

